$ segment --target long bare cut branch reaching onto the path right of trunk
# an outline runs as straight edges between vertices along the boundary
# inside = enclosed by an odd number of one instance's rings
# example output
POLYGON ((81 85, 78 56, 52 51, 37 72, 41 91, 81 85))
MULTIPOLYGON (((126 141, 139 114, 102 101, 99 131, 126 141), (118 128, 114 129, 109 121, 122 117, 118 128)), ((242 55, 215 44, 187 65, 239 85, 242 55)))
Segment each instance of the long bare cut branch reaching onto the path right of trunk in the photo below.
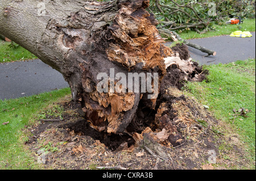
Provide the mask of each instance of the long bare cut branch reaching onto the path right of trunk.
POLYGON ((202 46, 200 46, 200 45, 191 43, 191 42, 188 41, 188 40, 182 39, 175 31, 170 31, 170 30, 166 30, 166 29, 164 29, 164 28, 160 28, 160 29, 159 29, 159 32, 169 33, 170 36, 171 36, 171 35, 175 35, 176 38, 177 38, 179 41, 181 41, 182 43, 188 45, 189 47, 193 47, 193 48, 195 48, 195 49, 198 49, 198 50, 200 50, 201 52, 207 53, 209 56, 210 56, 210 55, 216 56, 216 54, 217 54, 217 52, 215 52, 214 50, 209 50, 209 49, 207 49, 207 48, 205 48, 205 47, 202 47, 202 46))

